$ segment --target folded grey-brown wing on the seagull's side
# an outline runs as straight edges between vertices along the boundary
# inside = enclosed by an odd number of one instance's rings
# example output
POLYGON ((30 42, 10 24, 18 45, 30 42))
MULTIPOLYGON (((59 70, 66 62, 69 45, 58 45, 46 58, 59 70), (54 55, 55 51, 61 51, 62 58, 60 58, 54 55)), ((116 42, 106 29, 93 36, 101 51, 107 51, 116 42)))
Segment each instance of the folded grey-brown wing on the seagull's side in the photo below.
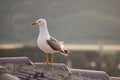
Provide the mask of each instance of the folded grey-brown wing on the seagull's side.
POLYGON ((49 46, 55 50, 55 51, 60 51, 60 52, 64 52, 61 48, 61 44, 59 41, 57 41, 55 38, 51 37, 50 40, 47 40, 47 43, 49 44, 49 46))

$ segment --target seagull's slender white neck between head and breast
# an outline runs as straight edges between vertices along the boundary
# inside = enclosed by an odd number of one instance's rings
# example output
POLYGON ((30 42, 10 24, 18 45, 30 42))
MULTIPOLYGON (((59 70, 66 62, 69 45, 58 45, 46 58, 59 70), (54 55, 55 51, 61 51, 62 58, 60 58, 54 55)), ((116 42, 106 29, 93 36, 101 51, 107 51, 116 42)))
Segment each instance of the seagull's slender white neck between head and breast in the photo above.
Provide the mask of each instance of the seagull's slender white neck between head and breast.
POLYGON ((50 38, 47 24, 45 24, 44 26, 39 26, 39 37, 48 38, 48 39, 50 38))

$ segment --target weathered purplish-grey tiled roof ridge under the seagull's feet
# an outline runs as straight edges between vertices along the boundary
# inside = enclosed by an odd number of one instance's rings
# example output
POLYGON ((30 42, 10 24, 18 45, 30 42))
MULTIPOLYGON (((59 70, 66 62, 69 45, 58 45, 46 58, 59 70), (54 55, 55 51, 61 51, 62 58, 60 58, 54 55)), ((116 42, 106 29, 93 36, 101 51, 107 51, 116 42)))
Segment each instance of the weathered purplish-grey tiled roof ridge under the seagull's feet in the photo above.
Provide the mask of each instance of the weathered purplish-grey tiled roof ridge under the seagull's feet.
POLYGON ((70 69, 65 64, 36 63, 27 57, 0 58, 0 79, 5 80, 120 80, 104 71, 70 69), (17 63, 18 61, 18 63, 17 63))

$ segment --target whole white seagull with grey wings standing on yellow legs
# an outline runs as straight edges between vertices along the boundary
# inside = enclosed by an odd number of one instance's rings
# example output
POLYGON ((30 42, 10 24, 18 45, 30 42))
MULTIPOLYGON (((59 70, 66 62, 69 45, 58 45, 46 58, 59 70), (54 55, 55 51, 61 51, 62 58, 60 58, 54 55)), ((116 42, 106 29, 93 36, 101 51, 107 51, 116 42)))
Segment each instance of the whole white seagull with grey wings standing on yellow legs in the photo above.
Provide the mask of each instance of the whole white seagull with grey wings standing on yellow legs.
POLYGON ((65 56, 71 53, 69 50, 64 49, 63 42, 59 42, 50 36, 47 28, 47 21, 45 19, 38 19, 35 22, 32 22, 32 25, 39 26, 37 45, 44 53, 46 53, 46 64, 50 66, 53 65, 53 53, 59 52, 65 56))

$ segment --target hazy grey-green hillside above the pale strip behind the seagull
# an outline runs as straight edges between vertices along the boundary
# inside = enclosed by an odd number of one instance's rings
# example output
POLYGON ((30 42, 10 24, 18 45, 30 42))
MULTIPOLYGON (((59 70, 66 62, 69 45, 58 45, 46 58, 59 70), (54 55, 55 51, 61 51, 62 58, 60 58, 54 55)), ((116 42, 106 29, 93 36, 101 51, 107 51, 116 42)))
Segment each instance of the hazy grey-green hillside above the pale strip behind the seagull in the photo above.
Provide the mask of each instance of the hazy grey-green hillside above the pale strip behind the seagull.
POLYGON ((120 0, 0 0, 0 43, 35 43, 48 21, 51 35, 65 43, 119 43, 120 0))

